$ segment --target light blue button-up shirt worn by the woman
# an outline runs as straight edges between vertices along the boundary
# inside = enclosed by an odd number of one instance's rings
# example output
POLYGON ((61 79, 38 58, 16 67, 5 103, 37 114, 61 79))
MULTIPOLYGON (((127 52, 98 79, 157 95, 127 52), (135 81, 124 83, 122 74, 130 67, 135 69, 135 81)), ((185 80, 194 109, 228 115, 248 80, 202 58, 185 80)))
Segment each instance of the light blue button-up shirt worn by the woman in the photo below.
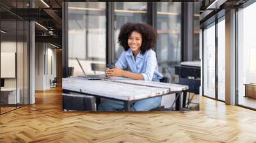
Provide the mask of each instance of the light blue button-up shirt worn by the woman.
POLYGON ((115 66, 121 69, 128 67, 130 72, 141 73, 144 80, 152 81, 153 79, 163 78, 163 75, 158 72, 156 52, 152 49, 147 50, 144 55, 139 53, 136 56, 136 61, 134 60, 132 50, 128 49, 122 52, 115 66))

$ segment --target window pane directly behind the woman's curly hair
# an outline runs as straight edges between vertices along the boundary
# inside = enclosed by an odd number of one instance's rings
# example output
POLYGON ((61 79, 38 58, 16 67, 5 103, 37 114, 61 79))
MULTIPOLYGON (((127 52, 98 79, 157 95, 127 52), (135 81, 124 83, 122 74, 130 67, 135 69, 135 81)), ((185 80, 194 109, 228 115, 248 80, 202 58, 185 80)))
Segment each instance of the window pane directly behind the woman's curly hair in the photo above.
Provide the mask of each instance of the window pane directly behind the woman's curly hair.
POLYGON ((127 22, 147 23, 147 3, 146 2, 115 2, 114 3, 114 39, 115 39, 115 61, 124 51, 118 43, 118 34, 123 24, 127 22))

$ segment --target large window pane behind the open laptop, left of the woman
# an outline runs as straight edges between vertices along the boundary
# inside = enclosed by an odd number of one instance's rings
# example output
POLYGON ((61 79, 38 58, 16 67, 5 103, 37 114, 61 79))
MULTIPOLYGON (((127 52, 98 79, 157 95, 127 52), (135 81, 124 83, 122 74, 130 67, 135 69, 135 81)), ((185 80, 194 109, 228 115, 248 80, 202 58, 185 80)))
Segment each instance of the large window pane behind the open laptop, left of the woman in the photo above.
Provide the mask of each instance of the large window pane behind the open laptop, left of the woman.
POLYGON ((83 75, 76 58, 86 73, 104 73, 92 64, 106 64, 106 3, 68 2, 68 66, 83 75))

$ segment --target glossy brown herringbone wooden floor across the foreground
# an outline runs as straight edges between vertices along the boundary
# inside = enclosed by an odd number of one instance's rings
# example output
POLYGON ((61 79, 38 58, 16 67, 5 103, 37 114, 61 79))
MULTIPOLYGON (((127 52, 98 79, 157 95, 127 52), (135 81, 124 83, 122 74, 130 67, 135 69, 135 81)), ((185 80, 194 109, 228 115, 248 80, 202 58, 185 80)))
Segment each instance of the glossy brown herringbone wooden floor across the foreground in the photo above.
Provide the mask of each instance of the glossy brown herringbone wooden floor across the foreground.
POLYGON ((256 112, 200 100, 200 111, 63 112, 61 89, 0 116, 0 142, 256 142, 256 112))

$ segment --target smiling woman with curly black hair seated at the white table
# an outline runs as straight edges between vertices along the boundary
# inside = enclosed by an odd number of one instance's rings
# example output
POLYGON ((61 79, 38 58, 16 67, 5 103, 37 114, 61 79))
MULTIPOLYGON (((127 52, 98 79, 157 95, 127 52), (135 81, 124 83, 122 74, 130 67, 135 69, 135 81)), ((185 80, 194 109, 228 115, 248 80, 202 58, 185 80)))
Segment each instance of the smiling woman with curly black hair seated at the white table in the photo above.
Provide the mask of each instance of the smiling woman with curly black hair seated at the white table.
MULTIPOLYGON (((158 72, 156 52, 152 48, 156 44, 156 31, 148 24, 126 23, 121 27, 118 43, 124 47, 116 68, 106 69, 109 77, 127 77, 136 80, 159 82, 163 75, 158 72), (128 68, 129 71, 123 69, 128 68)), ((132 110, 147 111, 161 104, 161 97, 148 98, 134 102, 132 110)), ((124 103, 115 100, 102 100, 98 110, 123 110, 124 103)))

